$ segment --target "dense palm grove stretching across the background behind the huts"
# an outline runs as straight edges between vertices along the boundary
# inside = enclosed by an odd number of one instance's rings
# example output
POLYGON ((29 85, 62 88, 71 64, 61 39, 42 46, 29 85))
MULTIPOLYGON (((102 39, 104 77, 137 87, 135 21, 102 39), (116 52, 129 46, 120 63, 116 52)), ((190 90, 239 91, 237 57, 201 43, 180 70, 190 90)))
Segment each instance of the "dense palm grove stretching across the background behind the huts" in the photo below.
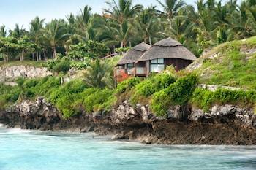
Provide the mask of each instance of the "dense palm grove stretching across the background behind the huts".
POLYGON ((236 0, 225 3, 198 0, 195 7, 183 0, 156 1, 159 7, 143 7, 132 0, 111 0, 107 1, 109 7, 103 15, 92 14, 91 7, 86 6, 79 15, 69 14, 65 20, 55 19, 50 23, 36 17, 31 20, 29 30, 16 25, 7 33, 1 26, 0 58, 40 61, 54 59, 58 53, 74 60, 102 57, 108 49, 96 45, 97 42, 104 43, 114 53, 115 47, 143 41, 152 44, 167 36, 199 56, 209 47, 256 35, 255 0, 242 0, 241 4, 236 0), (88 51, 88 43, 100 49, 100 53, 83 53, 84 49, 88 51))

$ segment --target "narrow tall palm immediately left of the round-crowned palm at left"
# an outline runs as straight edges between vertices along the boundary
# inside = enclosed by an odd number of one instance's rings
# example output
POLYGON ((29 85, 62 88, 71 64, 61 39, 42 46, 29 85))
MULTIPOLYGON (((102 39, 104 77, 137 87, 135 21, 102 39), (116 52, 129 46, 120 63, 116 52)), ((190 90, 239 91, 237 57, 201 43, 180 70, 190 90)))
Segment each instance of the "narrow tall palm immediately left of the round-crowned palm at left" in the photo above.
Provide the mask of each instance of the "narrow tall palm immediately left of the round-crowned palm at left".
MULTIPOLYGON (((45 19, 40 19, 39 17, 34 18, 34 20, 31 20, 30 23, 30 37, 31 40, 36 44, 38 47, 42 44, 42 28, 43 23, 45 22, 45 19)), ((41 54, 39 55, 39 51, 37 50, 37 61, 41 59, 41 54)))

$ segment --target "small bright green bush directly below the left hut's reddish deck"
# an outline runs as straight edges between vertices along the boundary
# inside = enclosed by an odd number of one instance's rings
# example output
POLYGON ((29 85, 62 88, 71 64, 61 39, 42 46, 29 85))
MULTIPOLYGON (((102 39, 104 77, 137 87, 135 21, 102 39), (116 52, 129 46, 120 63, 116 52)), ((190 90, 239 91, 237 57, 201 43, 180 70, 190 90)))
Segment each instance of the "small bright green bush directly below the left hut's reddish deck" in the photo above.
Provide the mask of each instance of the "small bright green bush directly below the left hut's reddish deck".
POLYGON ((116 93, 120 94, 120 93, 124 93, 128 90, 132 90, 132 88, 134 88, 135 85, 137 85, 138 83, 140 83, 140 78, 138 78, 138 77, 124 80, 123 82, 120 82, 117 85, 116 93))

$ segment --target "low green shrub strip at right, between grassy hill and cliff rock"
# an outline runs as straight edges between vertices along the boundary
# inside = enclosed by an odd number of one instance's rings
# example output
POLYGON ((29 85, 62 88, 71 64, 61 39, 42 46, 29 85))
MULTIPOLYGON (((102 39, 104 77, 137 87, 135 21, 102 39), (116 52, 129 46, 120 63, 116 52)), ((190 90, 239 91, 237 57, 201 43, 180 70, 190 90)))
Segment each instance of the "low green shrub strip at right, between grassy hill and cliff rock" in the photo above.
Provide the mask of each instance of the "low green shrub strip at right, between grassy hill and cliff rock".
POLYGON ((208 112, 214 104, 236 104, 242 107, 249 107, 253 106, 255 102, 255 91, 229 90, 224 88, 219 88, 216 91, 197 88, 191 98, 191 103, 205 112, 208 112))

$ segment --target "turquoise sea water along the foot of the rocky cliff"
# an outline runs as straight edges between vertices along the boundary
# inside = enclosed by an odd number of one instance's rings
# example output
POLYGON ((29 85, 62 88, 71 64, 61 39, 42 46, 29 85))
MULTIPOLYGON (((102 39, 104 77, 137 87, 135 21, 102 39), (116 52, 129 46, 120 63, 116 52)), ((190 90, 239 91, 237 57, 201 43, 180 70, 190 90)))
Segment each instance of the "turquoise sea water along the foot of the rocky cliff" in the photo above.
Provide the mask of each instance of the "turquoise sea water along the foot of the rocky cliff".
POLYGON ((0 127, 0 170, 256 169, 256 147, 163 146, 0 127))

